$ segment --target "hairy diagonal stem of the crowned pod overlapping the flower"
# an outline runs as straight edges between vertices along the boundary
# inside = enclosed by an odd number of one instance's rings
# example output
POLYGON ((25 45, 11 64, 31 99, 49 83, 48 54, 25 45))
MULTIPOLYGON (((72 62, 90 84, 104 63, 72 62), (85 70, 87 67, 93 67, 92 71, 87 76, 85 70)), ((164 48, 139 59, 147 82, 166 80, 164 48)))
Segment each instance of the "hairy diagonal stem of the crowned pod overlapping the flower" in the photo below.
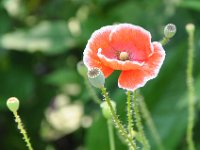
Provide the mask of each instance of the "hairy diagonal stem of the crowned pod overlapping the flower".
POLYGON ((125 128, 121 124, 120 120, 117 117, 117 114, 116 114, 114 108, 112 107, 112 104, 110 102, 111 100, 110 100, 110 97, 108 96, 106 88, 102 88, 101 91, 102 91, 102 95, 104 96, 104 98, 105 98, 105 100, 106 100, 106 102, 107 102, 107 104, 108 104, 108 106, 110 108, 110 112, 112 114, 113 122, 114 122, 116 128, 118 129, 119 133, 125 138, 125 141, 128 142, 128 146, 130 147, 130 149, 131 150, 136 150, 136 145, 135 145, 133 139, 131 139, 128 136, 127 131, 125 130, 125 128))

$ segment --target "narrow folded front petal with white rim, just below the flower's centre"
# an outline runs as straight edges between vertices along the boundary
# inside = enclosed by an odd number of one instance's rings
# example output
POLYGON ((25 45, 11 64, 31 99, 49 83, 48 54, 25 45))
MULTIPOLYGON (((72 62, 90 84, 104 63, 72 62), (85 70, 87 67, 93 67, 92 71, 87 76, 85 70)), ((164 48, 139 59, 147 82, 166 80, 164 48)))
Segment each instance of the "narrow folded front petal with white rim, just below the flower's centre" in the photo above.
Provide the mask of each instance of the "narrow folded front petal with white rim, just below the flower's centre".
POLYGON ((97 56, 99 57, 100 61, 105 65, 108 66, 114 70, 133 70, 133 69, 139 69, 144 64, 144 62, 138 62, 138 61, 121 61, 117 59, 110 59, 106 56, 102 55, 102 49, 100 48, 98 51, 97 56))

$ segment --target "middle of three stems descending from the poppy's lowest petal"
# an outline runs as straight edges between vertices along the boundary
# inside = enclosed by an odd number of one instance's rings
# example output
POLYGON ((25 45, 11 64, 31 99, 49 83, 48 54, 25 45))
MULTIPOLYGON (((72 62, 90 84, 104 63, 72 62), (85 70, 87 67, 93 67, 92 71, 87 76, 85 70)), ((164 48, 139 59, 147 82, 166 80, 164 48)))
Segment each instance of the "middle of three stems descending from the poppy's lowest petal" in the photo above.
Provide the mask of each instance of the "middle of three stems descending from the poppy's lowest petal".
POLYGON ((136 126, 137 126, 138 131, 139 131, 141 143, 143 144, 143 149, 149 150, 150 145, 149 145, 149 142, 148 142, 148 140, 147 140, 147 138, 144 134, 142 121, 141 121, 141 117, 140 117, 140 113, 139 113, 139 107, 138 107, 138 103, 137 103, 137 93, 136 93, 136 91, 133 93, 133 109, 134 109, 134 112, 135 112, 136 126))

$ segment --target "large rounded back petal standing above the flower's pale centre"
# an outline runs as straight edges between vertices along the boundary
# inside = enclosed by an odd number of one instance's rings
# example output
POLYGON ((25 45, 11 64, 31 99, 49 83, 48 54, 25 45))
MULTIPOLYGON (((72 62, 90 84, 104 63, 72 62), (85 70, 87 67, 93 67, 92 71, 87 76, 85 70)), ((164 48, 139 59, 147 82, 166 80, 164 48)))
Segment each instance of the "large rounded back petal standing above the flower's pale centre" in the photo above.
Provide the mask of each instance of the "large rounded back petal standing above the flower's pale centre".
POLYGON ((131 24, 116 25, 110 33, 109 40, 112 48, 116 51, 132 53, 132 60, 142 61, 153 50, 151 34, 147 30, 131 24))

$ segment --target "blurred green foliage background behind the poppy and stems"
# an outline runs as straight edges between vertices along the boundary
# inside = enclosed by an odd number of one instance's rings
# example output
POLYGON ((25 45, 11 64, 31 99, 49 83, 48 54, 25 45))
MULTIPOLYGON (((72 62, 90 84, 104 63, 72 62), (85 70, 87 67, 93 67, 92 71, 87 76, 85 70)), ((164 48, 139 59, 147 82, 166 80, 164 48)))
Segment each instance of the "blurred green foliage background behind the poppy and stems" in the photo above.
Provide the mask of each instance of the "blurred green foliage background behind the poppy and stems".
MULTIPOLYGON (((76 71, 76 63, 82 59, 84 47, 94 30, 119 22, 146 28, 152 33, 153 41, 162 38, 165 24, 172 22, 177 26, 177 35, 165 47, 166 60, 159 76, 141 88, 166 150, 187 149, 185 25, 189 22, 196 25, 194 140, 200 149, 199 15, 198 0, 0 1, 0 149, 26 149, 13 116, 6 108, 6 99, 11 96, 18 97, 21 102, 19 114, 35 149, 109 149, 106 121, 99 106, 89 97, 83 78, 76 71), (58 95, 65 97, 58 99, 58 95), (66 128, 47 119, 47 108, 56 112, 60 106, 74 107, 75 103, 80 103, 84 112, 81 118, 77 117, 79 126, 73 128, 73 132, 65 132, 66 128), (41 133, 42 128, 49 129, 45 130, 45 135, 41 133), (53 134, 50 131, 54 131, 53 134)), ((125 95, 123 90, 117 89, 117 77, 118 73, 114 73, 106 85, 117 102, 120 116, 126 116, 125 95)), ((61 115, 76 116, 76 112, 61 115)), ((59 119, 58 113, 55 116, 59 119)), ((74 118, 61 119, 61 124, 68 124, 74 118)), ((152 149, 157 149, 146 126, 145 132, 152 149)), ((116 140, 117 150, 125 150, 117 133, 116 140)))

